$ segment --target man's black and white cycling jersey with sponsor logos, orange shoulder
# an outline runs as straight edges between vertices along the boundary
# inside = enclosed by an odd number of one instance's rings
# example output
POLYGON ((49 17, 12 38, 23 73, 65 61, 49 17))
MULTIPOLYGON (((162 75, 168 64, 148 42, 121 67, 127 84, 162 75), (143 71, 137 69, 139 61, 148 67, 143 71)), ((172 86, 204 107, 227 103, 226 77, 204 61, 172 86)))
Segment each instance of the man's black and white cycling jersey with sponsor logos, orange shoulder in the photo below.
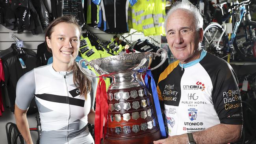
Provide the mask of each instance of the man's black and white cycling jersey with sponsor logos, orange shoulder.
POLYGON ((200 58, 170 64, 158 80, 169 136, 217 124, 243 124, 241 96, 232 67, 202 50, 200 58))

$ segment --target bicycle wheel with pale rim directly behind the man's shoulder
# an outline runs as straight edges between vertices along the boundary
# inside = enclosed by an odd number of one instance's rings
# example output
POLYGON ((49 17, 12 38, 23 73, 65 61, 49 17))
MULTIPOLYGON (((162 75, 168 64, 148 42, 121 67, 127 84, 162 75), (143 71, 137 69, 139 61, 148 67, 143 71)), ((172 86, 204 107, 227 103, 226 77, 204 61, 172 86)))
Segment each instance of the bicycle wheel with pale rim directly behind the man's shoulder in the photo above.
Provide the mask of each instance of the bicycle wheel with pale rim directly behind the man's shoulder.
POLYGON ((227 52, 225 33, 221 37, 223 31, 224 29, 220 24, 216 22, 209 24, 204 30, 204 38, 201 42, 201 48, 217 57, 224 58, 227 55, 227 52), (218 41, 220 41, 219 47, 217 47, 218 41))

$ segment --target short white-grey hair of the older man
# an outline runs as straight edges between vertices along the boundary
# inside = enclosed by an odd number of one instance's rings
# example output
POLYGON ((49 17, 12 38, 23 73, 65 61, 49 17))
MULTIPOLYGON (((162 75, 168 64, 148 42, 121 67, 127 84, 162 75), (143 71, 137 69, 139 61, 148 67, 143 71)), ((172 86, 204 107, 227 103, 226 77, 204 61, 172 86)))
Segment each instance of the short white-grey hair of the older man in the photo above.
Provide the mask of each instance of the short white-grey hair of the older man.
POLYGON ((197 9, 197 7, 194 6, 193 4, 189 4, 187 2, 177 1, 173 4, 171 9, 168 11, 167 15, 165 16, 165 23, 164 23, 165 32, 167 32, 166 31, 167 19, 177 9, 186 10, 194 16, 195 28, 196 28, 197 31, 199 31, 200 28, 203 28, 204 20, 203 20, 203 17, 201 16, 199 10, 197 9))

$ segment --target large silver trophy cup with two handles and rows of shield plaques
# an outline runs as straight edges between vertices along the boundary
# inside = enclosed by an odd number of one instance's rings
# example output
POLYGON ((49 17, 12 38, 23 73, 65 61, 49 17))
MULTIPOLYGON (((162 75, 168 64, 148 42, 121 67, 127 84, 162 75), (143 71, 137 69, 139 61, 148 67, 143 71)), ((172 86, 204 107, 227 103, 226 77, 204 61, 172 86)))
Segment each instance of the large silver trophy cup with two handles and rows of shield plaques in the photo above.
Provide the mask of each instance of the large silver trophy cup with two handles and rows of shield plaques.
MULTIPOLYGON (((167 52, 159 49, 154 52, 115 55, 87 62, 79 61, 93 67, 98 74, 112 78, 107 90, 108 114, 105 144, 152 144, 161 138, 160 127, 154 106, 154 100, 149 94, 142 74, 147 71, 152 60, 161 56, 165 62, 167 52)), ((92 76, 96 77, 96 76, 92 76)), ((102 100, 102 99, 101 99, 102 100)), ((97 108, 96 108, 97 109, 97 108)))

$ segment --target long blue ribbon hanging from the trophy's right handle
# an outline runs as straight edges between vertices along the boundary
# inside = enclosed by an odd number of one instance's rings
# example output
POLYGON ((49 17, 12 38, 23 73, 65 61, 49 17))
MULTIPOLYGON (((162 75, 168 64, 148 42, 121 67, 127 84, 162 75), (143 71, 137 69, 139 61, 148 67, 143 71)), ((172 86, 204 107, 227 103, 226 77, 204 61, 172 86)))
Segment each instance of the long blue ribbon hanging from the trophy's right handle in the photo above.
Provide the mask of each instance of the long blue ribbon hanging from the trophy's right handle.
POLYGON ((152 89, 152 93, 153 93, 154 103, 155 103, 155 107, 156 107, 156 114, 158 117, 158 124, 160 127, 161 135, 162 135, 162 137, 166 137, 165 126, 163 123, 163 117, 162 117, 162 113, 161 113, 160 103, 159 103, 158 94, 156 91, 156 83, 154 81, 153 75, 151 74, 151 70, 147 70, 146 76, 145 76, 145 85, 146 85, 147 89, 149 89, 148 76, 150 76, 150 78, 151 78, 150 84, 151 84, 151 89, 152 89))

